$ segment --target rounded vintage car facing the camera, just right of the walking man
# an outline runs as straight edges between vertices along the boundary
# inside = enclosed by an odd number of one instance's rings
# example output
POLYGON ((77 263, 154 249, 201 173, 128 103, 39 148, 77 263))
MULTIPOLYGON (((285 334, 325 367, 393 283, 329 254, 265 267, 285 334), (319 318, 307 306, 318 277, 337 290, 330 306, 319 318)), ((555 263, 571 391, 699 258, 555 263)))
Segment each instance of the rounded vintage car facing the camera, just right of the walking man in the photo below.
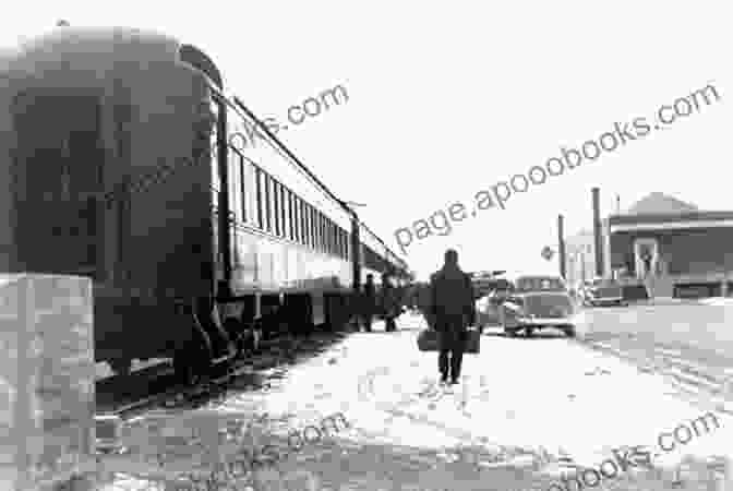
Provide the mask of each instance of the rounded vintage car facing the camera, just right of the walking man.
POLYGON ((564 282, 552 276, 522 276, 500 309, 504 333, 516 336, 524 331, 530 337, 537 330, 556 328, 575 337, 575 302, 564 282))

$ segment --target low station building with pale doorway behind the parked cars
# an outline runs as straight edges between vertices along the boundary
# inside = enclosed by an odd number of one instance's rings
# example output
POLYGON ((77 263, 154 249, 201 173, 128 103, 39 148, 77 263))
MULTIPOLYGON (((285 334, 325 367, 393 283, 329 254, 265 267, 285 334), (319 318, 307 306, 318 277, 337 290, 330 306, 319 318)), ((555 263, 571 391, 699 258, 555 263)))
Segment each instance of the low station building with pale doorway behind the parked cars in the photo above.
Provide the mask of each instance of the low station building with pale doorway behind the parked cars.
MULTIPOLYGON (((733 296, 733 212, 700 211, 654 192, 601 220, 601 276, 656 298, 733 296)), ((593 232, 566 240, 572 287, 597 276, 593 232)))

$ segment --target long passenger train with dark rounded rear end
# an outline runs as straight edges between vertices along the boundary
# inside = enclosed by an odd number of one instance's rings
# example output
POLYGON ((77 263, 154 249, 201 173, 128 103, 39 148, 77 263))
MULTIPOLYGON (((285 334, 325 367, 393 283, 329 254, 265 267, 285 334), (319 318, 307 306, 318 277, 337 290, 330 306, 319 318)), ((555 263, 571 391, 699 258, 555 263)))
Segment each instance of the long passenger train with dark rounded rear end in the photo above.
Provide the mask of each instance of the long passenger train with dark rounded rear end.
POLYGON ((172 37, 52 29, 0 51, 0 271, 91 277, 96 358, 118 373, 170 358, 177 303, 196 306, 214 342, 230 315, 337 324, 363 267, 406 277, 172 37), (238 146, 252 123, 266 137, 238 146))

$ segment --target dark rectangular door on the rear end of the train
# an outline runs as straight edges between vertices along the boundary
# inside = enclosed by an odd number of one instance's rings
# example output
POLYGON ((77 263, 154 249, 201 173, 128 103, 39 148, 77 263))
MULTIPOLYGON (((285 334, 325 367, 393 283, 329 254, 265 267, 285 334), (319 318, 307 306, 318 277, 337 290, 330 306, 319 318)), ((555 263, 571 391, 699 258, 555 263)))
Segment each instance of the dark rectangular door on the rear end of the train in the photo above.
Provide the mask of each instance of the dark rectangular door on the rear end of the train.
POLYGON ((23 271, 97 277, 100 99, 31 91, 13 104, 15 233, 23 271))

